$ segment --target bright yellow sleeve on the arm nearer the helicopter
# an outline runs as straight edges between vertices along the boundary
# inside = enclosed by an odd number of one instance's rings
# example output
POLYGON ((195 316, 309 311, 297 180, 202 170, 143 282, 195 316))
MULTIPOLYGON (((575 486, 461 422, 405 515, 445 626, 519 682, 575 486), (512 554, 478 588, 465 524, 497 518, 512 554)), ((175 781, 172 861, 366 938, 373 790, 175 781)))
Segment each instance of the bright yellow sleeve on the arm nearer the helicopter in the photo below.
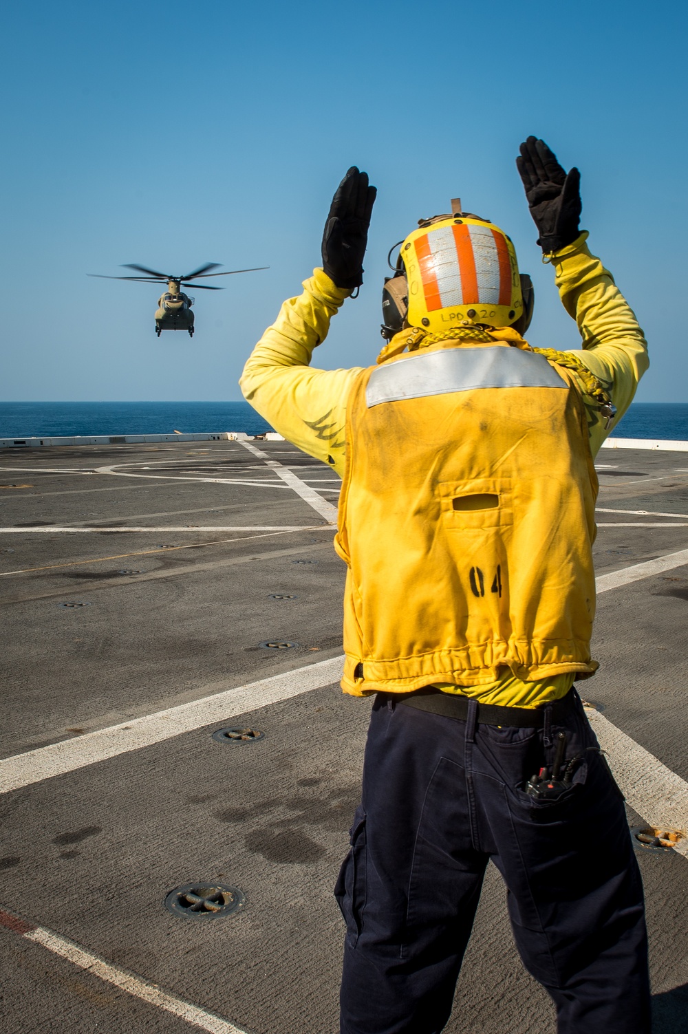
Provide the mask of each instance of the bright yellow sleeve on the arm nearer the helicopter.
POLYGON ((303 294, 283 303, 239 381, 246 401, 279 434, 340 476, 347 399, 361 368, 318 370, 308 364, 350 294, 336 287, 322 269, 313 270, 303 281, 303 294))

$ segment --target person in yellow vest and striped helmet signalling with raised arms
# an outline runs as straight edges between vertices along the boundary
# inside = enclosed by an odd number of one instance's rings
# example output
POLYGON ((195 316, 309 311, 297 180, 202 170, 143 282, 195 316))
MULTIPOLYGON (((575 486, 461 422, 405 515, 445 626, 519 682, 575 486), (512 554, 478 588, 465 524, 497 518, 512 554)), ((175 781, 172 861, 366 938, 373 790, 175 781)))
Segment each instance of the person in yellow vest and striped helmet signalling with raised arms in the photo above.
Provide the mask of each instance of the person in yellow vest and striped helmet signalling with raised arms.
POLYGON ((527 343, 532 285, 513 245, 456 201, 401 243, 378 363, 312 368, 362 283, 376 189, 352 168, 322 269, 241 378, 275 430, 343 480, 341 685, 375 702, 335 889, 342 1034, 442 1030, 490 859, 560 1034, 650 1032, 623 797, 573 688, 597 668, 593 460, 647 344, 578 229, 578 171, 534 136, 516 161, 580 351, 527 343))

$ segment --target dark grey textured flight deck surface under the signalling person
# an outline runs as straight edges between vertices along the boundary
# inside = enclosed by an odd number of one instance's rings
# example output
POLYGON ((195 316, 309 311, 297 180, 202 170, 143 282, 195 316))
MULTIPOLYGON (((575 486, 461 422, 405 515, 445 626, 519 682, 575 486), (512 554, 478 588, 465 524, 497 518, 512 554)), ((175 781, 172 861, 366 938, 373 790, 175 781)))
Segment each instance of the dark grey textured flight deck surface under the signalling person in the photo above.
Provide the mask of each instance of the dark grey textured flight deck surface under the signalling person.
MULTIPOLYGON (((321 480, 331 470, 287 444, 257 445, 312 487, 336 487, 321 480)), ((600 469, 600 507, 688 513, 688 454, 603 450, 598 463, 608 465, 600 469)), ((33 486, 0 488, 2 526, 304 528, 256 539, 242 537, 267 533, 0 534, 0 549, 13 550, 0 552, 0 571, 71 565, 0 578, 0 756, 197 699, 222 680, 241 686, 340 652, 343 567, 332 530, 241 446, 16 450, 0 453, 0 466, 12 468, 0 470, 0 484, 33 486), (151 467, 136 468, 150 480, 49 473, 126 463, 151 467), (158 548, 197 543, 217 544, 158 548), (121 556, 133 552, 141 555, 121 556), (269 599, 280 592, 297 599, 269 599), (258 646, 272 639, 300 645, 276 656, 258 646)), ((625 520, 670 518, 598 514, 600 524, 625 520)), ((687 545, 688 527, 600 527, 597 571, 687 545)), ((585 693, 688 780, 687 608, 688 567, 600 596, 602 668, 585 693)), ((200 728, 5 795, 0 906, 255 1034, 334 1034, 342 923, 331 888, 358 800, 368 710, 369 702, 324 688, 242 717, 265 730, 260 742, 217 743, 216 725, 200 728), (241 887, 244 911, 207 923, 164 911, 166 893, 197 878, 241 887)), ((651 853, 640 863, 655 1030, 681 1034, 688 1031, 688 863, 651 853)), ((192 1029, 9 931, 0 930, 0 951, 3 1030, 192 1029)), ((447 1030, 555 1030, 546 996, 515 953, 493 869, 447 1030)))

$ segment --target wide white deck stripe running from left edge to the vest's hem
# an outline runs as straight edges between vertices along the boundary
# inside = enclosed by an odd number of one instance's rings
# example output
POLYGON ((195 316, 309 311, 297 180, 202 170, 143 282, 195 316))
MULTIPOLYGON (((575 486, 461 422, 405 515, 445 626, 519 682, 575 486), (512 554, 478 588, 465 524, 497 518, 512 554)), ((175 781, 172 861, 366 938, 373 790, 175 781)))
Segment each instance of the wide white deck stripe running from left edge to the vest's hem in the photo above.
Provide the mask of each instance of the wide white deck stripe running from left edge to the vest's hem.
POLYGON ((65 772, 106 761, 108 758, 139 751, 142 747, 172 739, 214 722, 225 722, 235 714, 267 707, 310 690, 319 690, 341 677, 343 656, 297 668, 281 675, 263 678, 223 693, 192 700, 177 707, 131 719, 119 725, 88 732, 73 739, 63 739, 26 754, 0 761, 0 793, 53 779, 65 772))

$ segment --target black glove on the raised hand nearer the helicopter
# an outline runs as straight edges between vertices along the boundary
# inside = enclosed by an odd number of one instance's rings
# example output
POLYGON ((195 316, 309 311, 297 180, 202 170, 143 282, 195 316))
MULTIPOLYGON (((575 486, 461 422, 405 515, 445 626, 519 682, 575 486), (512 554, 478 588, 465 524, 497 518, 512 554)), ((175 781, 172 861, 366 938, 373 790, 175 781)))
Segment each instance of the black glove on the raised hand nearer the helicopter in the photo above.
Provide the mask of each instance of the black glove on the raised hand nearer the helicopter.
POLYGON ((368 186, 368 174, 352 165, 332 199, 323 234, 323 269, 337 287, 363 283, 363 255, 377 193, 368 186))

